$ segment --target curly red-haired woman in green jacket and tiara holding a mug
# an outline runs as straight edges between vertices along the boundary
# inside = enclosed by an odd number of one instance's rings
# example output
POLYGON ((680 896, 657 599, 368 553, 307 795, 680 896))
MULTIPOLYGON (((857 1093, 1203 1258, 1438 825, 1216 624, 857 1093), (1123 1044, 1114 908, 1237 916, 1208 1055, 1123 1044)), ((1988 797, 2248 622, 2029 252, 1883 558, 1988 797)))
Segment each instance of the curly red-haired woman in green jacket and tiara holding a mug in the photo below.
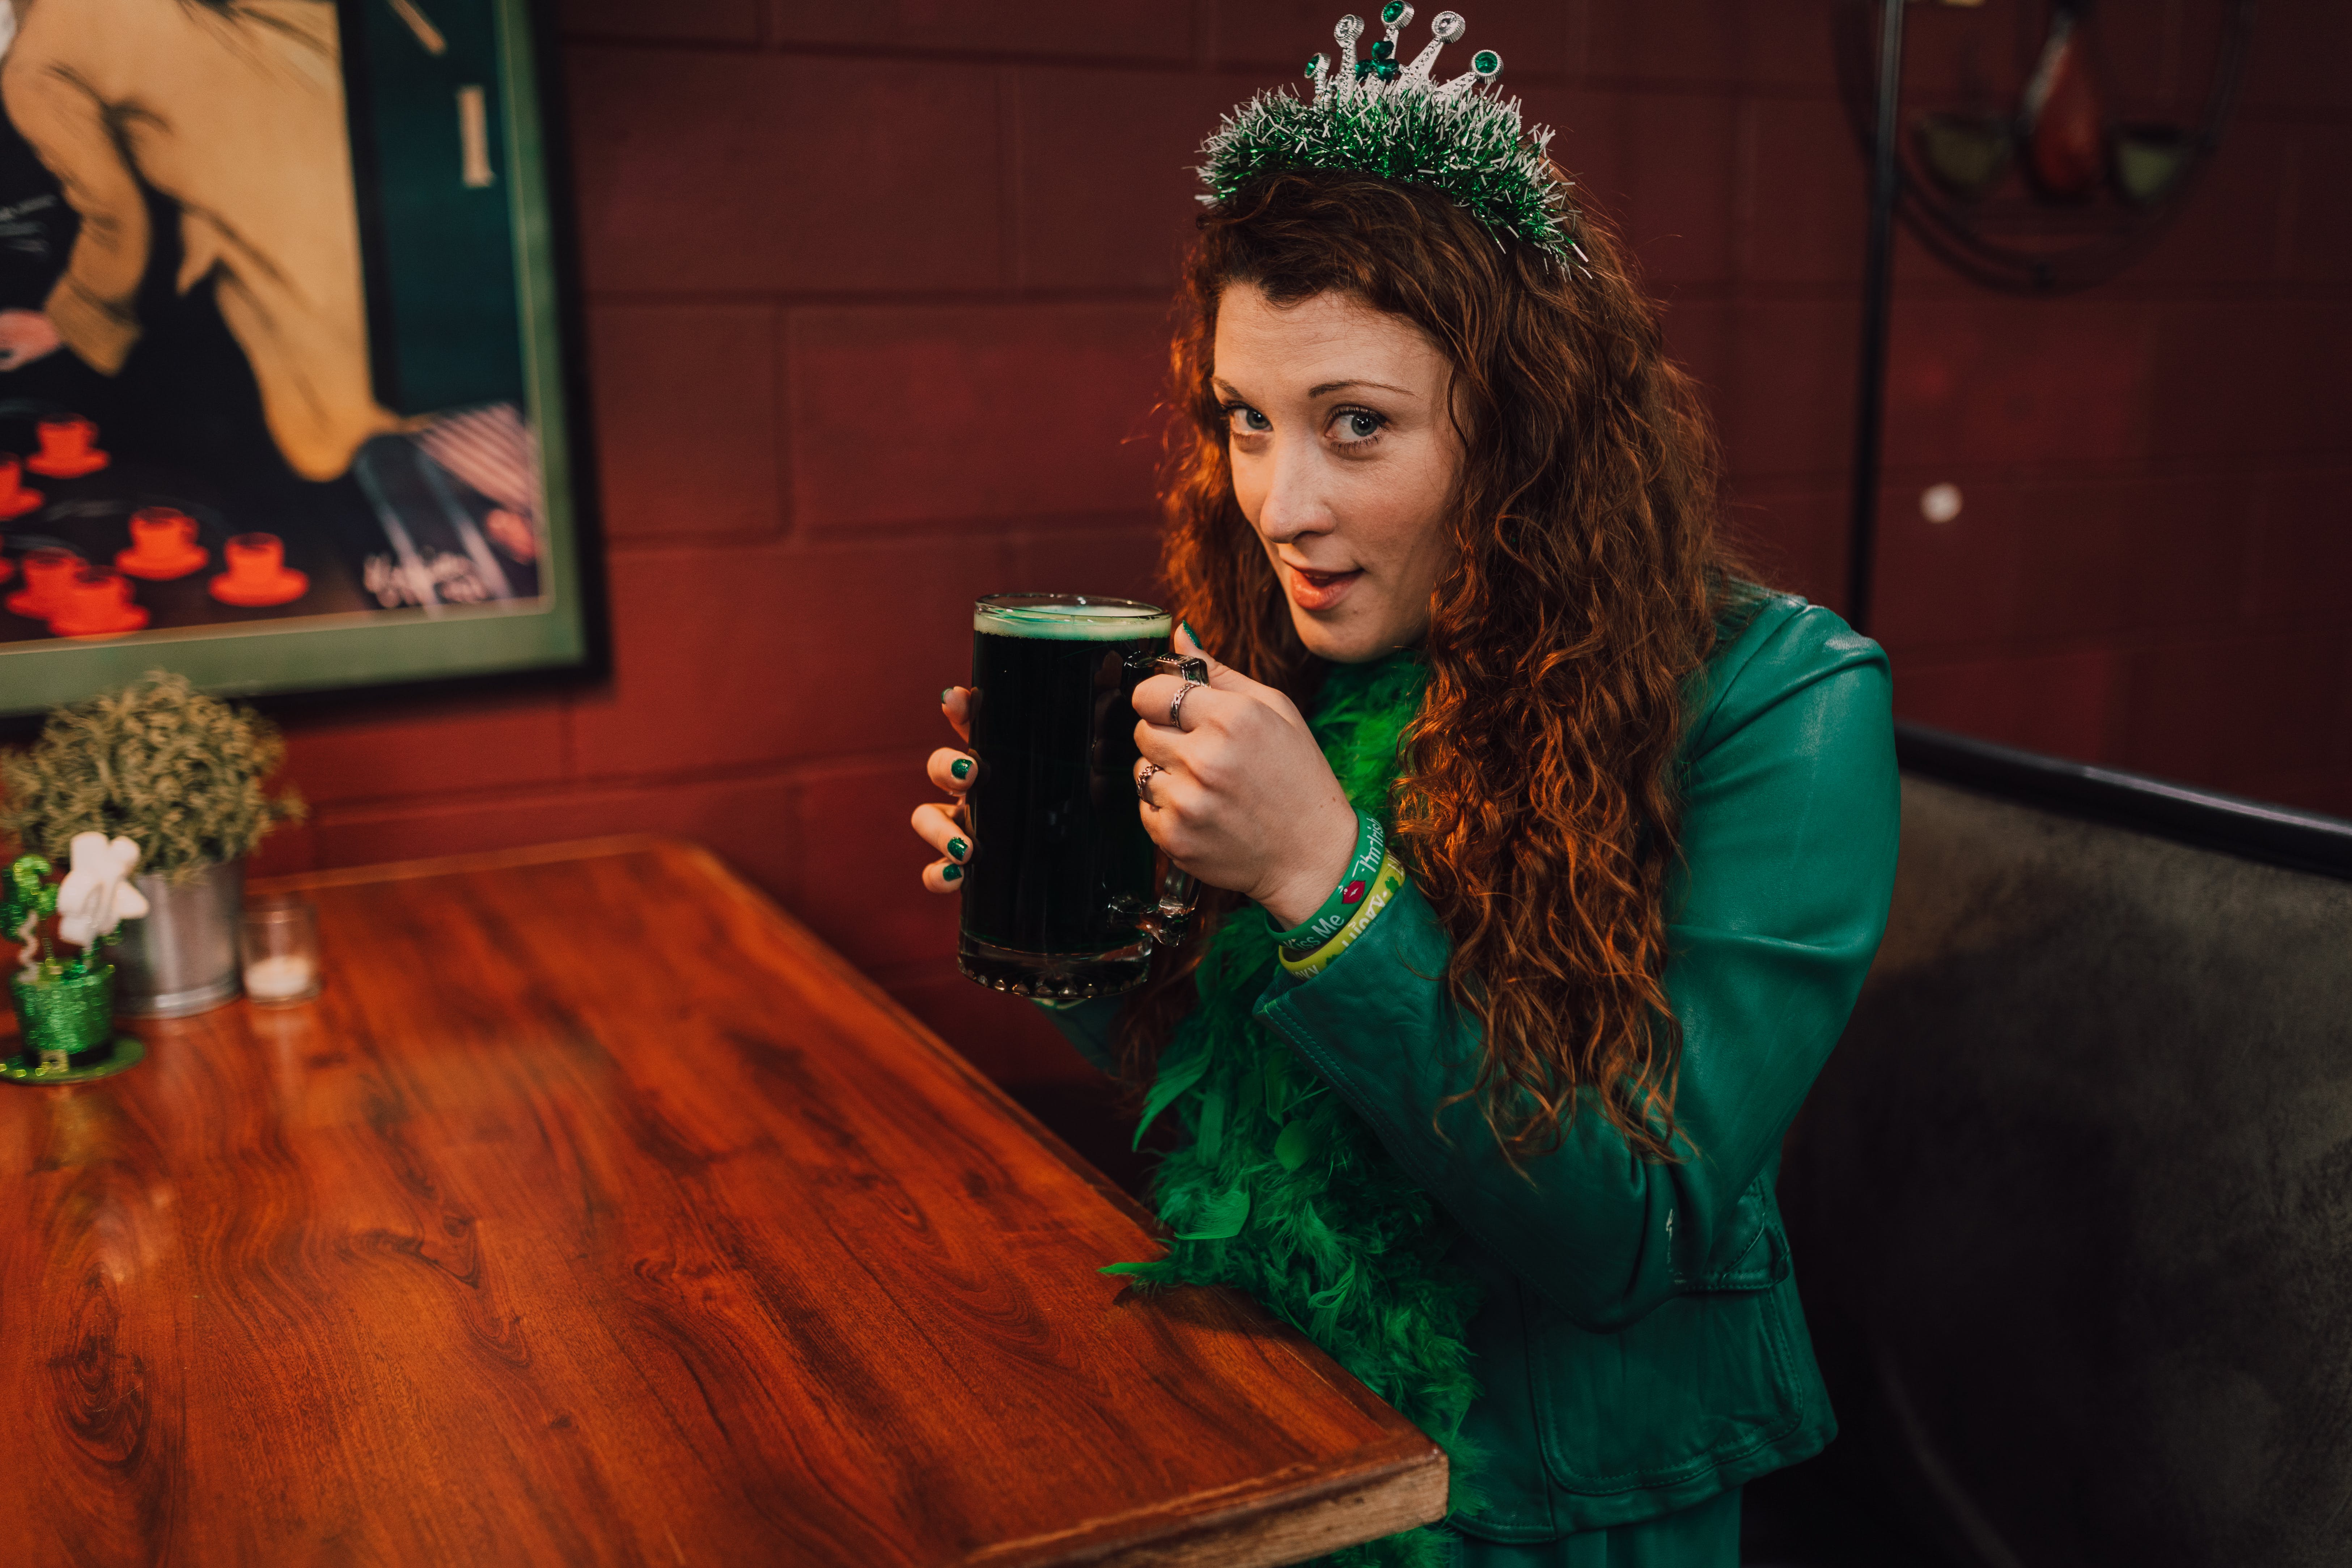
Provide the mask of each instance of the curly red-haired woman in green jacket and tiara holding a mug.
MULTIPOLYGON (((1317 110, 1395 47, 1348 63, 1317 110)), ((1176 724, 1136 689, 1138 811, 1223 893, 1056 1011, 1178 1124, 1120 1269, 1254 1293, 1446 1448, 1446 1521, 1338 1561, 1731 1568, 1740 1486, 1835 1434, 1773 1178, 1886 919, 1886 661, 1736 571, 1550 165, 1538 230, 1324 158, 1211 167, 1183 284, 1162 576, 1216 658, 1176 724)))

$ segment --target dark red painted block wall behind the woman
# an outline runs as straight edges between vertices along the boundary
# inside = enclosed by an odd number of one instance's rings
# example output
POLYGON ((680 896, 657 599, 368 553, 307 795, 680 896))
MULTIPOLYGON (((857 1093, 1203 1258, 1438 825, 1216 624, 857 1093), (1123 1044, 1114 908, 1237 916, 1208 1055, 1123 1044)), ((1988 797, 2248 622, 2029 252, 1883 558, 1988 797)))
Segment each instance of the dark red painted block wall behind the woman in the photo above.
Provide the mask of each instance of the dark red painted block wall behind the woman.
MULTIPOLYGON (((983 1067, 1068 1077, 915 886, 934 693, 978 592, 1148 592, 1185 165, 1336 9, 569 0, 614 679, 299 724, 315 816, 270 860, 689 835, 983 1067)), ((1828 2, 1470 24, 1672 301, 1759 555, 1837 602, 1863 165, 1828 2)), ((2004 299, 1903 249, 1879 632, 1910 717, 2352 813, 2352 7, 2260 28, 2126 277, 2004 299)))

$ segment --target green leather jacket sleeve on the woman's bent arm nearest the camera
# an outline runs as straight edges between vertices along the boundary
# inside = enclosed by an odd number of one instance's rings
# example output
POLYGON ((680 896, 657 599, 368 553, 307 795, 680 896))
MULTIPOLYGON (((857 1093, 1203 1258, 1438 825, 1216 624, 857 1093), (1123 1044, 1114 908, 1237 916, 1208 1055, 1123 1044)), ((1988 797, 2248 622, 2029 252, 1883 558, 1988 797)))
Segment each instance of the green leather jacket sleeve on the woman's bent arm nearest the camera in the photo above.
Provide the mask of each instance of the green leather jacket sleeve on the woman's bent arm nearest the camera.
POLYGON ((1771 1222, 1773 1154, 1886 926, 1900 818, 1886 658, 1828 611, 1771 618, 1717 675, 1684 752, 1665 971, 1679 1161, 1637 1157, 1590 1100, 1524 1175, 1475 1098, 1439 1117, 1472 1086, 1482 1041, 1414 889, 1319 976, 1279 976, 1258 1001, 1475 1241, 1590 1331, 1684 1291, 1759 1284, 1748 1258, 1771 1222))

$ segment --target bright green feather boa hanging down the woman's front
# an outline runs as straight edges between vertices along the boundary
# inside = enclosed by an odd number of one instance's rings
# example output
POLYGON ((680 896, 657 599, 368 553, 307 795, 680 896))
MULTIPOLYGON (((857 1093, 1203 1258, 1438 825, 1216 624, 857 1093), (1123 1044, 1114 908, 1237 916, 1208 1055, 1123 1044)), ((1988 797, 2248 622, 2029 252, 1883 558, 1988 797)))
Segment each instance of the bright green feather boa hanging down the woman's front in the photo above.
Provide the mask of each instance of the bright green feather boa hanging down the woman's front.
MULTIPOLYGON (((1414 654, 1336 665, 1310 722, 1348 799, 1383 823, 1397 741, 1425 682, 1414 654)), ((1152 1178, 1176 1239, 1167 1258, 1105 1272, 1145 1288, 1249 1291, 1428 1432, 1451 1465, 1451 1507, 1472 1507, 1477 1455, 1461 1422, 1477 1380, 1463 1331, 1479 1288, 1444 1260, 1454 1241, 1444 1211, 1404 1180, 1329 1084, 1251 1018, 1272 976, 1272 931, 1244 907, 1209 938, 1200 1004, 1162 1051, 1143 1103, 1145 1126, 1167 1110, 1183 1128, 1152 1178)), ((1444 1552, 1437 1533, 1406 1530, 1322 1561, 1435 1568, 1444 1552)))

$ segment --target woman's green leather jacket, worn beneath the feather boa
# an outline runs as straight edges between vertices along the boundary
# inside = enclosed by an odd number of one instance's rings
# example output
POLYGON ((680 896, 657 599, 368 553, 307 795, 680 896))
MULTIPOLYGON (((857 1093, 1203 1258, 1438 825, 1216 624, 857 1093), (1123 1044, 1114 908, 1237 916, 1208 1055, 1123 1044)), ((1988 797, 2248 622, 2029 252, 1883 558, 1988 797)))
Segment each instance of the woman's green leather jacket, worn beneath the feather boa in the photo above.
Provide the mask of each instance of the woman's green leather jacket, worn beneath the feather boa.
MULTIPOLYGON (((1456 1526, 1552 1540, 1691 1507, 1837 1432, 1790 1276, 1780 1138, 1844 1030, 1893 891, 1886 656, 1773 597, 1708 665, 1682 750, 1665 990, 1682 1023, 1679 1164, 1585 1110, 1515 1173, 1470 1103, 1477 1025, 1435 978, 1449 938, 1404 889, 1329 969, 1256 1013, 1461 1227, 1489 1453, 1456 1526)), ((1098 1065, 1115 999, 1054 1013, 1098 1065)))

